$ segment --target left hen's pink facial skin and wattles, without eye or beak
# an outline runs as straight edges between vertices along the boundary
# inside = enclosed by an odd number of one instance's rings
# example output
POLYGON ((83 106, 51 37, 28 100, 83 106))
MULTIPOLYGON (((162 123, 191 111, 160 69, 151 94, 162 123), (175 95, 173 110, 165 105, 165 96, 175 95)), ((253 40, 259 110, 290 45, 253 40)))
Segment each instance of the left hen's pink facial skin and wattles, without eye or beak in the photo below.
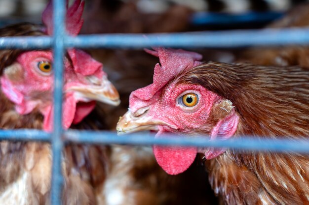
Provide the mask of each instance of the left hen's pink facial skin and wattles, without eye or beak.
MULTIPOLYGON (((70 88, 72 86, 88 86, 89 82, 85 78, 87 75, 94 74, 97 77, 106 75, 102 70, 102 64, 92 59, 88 54, 82 51, 74 52, 74 50, 71 50, 70 53, 75 53, 75 55, 76 53, 82 54, 81 57, 84 57, 84 62, 89 63, 82 70, 78 67, 73 67, 68 59, 64 61, 63 126, 65 129, 69 128, 73 122, 78 123, 82 120, 95 106, 95 102, 90 101, 83 103, 78 108, 77 102, 80 99, 70 88)), ((77 56, 77 58, 80 58, 80 56, 77 56)), ((38 63, 41 61, 52 63, 52 52, 29 51, 22 53, 16 59, 16 62, 21 66, 23 78, 18 81, 12 81, 3 75, 0 79, 1 89, 15 103, 16 111, 21 115, 28 114, 35 108, 38 108, 44 116, 43 129, 51 131, 53 127, 52 92, 54 79, 52 71, 43 72, 39 70, 38 63)))

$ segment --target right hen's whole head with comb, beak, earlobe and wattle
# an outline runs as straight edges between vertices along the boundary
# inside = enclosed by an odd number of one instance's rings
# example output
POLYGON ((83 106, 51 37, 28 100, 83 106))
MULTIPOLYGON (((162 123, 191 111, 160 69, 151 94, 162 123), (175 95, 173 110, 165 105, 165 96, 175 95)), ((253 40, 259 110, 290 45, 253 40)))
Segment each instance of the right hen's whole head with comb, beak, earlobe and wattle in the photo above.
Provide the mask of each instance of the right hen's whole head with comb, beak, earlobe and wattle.
MULTIPOLYGON (((156 137, 172 132, 208 134, 210 139, 230 138, 238 124, 231 101, 201 85, 186 82, 184 78, 186 71, 199 64, 195 58, 197 54, 162 48, 156 49, 156 52, 153 54, 159 56, 162 66, 154 68, 154 83, 131 93, 129 111, 120 118, 117 131, 154 130, 157 131, 156 137)), ((211 159, 225 149, 154 146, 158 164, 173 175, 188 169, 198 151, 211 159)))

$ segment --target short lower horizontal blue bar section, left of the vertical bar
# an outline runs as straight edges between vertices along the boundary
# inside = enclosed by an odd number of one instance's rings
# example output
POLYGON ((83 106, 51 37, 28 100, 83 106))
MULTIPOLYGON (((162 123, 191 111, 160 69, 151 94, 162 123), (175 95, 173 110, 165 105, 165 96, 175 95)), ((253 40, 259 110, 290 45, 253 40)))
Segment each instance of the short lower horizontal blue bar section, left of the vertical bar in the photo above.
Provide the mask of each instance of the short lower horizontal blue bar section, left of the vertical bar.
POLYGON ((0 130, 0 140, 44 141, 48 142, 51 135, 34 129, 0 130))

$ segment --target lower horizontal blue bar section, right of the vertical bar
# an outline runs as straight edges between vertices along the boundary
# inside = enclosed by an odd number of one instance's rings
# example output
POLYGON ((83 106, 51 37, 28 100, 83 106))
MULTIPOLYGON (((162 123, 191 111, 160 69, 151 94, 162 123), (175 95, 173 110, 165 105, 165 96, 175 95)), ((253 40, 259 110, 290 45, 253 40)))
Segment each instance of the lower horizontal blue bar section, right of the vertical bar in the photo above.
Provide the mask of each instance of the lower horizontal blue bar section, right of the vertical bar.
POLYGON ((309 153, 309 140, 289 139, 262 139, 252 136, 232 138, 230 140, 209 141, 209 137, 177 137, 166 135, 164 138, 154 138, 151 133, 133 133, 125 136, 117 136, 116 132, 95 132, 69 130, 65 132, 65 139, 69 142, 88 144, 128 144, 128 145, 173 145, 173 146, 197 146, 197 147, 229 147, 235 149, 257 151, 293 151, 309 153))

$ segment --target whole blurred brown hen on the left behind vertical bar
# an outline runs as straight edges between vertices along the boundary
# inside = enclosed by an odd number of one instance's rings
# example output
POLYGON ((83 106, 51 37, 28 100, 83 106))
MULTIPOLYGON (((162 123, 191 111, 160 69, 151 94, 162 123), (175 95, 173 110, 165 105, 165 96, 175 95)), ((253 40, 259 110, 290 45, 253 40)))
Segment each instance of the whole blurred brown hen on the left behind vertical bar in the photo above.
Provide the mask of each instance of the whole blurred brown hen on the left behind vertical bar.
MULTIPOLYGON (((84 2, 68 9, 66 29, 77 35, 84 2)), ((0 29, 0 36, 39 36, 52 33, 52 5, 42 14, 44 26, 18 24, 0 29)), ((0 128, 53 128, 53 55, 51 50, 0 51, 0 128)), ((103 129, 96 119, 85 118, 95 100, 119 104, 116 88, 102 63, 78 49, 69 49, 64 61, 63 127, 103 129)), ((100 109, 99 109, 100 110, 100 109)), ((97 111, 97 110, 95 110, 97 111)), ((63 152, 64 205, 96 205, 108 169, 109 147, 68 145, 63 152)), ((38 142, 0 142, 0 204, 49 204, 51 147, 38 142)))

